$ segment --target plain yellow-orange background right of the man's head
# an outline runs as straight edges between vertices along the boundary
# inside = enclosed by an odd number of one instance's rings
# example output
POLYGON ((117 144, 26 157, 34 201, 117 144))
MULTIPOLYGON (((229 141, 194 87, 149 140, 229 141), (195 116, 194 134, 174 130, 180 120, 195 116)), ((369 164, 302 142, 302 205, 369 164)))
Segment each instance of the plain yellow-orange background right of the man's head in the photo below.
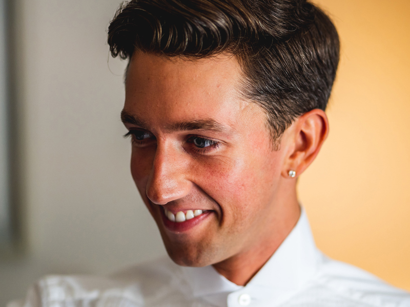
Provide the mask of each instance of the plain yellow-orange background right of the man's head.
POLYGON ((300 201, 323 252, 410 290, 410 2, 315 3, 336 24, 341 62, 300 201))

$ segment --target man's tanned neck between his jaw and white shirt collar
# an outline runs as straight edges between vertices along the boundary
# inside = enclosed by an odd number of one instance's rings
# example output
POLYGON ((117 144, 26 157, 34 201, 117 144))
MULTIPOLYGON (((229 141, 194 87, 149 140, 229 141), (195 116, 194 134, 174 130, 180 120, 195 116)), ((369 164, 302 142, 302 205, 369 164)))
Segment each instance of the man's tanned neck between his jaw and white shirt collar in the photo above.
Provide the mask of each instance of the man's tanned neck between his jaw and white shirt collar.
POLYGON ((253 276, 272 257, 283 240, 295 227, 300 216, 300 206, 297 202, 296 193, 291 203, 278 208, 274 221, 274 229, 267 227, 267 231, 261 234, 252 248, 214 264, 213 267, 219 274, 238 286, 245 286, 253 276))

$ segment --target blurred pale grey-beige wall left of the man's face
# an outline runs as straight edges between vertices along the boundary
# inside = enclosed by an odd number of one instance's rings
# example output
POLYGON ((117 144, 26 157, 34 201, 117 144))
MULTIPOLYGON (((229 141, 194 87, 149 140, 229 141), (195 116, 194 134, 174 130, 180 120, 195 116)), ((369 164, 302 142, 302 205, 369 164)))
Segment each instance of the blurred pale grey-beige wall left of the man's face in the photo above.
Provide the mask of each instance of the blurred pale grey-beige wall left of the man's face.
POLYGON ((119 3, 19 4, 28 246, 0 262, 1 306, 44 274, 108 273, 165 253, 122 138, 125 63, 106 43, 119 3))

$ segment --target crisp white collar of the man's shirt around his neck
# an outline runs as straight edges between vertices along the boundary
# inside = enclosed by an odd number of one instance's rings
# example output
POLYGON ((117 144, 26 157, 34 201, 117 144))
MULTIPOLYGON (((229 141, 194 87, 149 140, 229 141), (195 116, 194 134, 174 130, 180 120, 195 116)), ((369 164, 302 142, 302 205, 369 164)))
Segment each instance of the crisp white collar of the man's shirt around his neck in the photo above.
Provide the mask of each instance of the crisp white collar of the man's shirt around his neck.
POLYGON ((212 266, 203 268, 182 267, 194 297, 203 297, 216 303, 235 291, 251 293, 257 300, 286 295, 296 291, 311 279, 320 261, 308 217, 302 208, 299 220, 276 252, 245 287, 229 281, 212 266), (213 298, 212 298, 213 297, 213 298))

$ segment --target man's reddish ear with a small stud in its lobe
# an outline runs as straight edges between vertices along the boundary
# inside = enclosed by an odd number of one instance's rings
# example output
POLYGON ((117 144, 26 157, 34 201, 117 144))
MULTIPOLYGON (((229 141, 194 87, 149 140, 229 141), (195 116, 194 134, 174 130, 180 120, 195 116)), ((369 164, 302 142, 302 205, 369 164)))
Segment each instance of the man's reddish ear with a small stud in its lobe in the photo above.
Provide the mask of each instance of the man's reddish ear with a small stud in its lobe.
MULTIPOLYGON (((286 136, 289 148, 282 169, 282 176, 290 178, 289 171, 294 170, 299 176, 315 160, 320 147, 327 137, 329 121, 321 109, 300 116, 290 127, 286 136)), ((295 177, 296 178, 296 177, 295 177)))

